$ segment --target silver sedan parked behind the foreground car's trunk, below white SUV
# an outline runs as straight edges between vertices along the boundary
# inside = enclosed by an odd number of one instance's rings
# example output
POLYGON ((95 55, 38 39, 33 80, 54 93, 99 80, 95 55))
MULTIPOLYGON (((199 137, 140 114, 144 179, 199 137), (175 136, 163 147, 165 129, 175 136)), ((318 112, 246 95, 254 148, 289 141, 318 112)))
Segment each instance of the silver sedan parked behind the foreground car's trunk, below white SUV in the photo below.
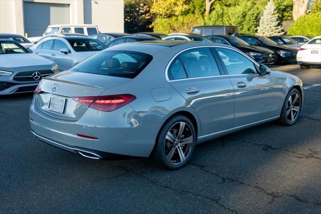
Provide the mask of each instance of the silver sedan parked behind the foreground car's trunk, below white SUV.
POLYGON ((65 36, 49 37, 30 49, 34 54, 54 61, 60 70, 65 71, 105 48, 107 46, 93 38, 65 36))

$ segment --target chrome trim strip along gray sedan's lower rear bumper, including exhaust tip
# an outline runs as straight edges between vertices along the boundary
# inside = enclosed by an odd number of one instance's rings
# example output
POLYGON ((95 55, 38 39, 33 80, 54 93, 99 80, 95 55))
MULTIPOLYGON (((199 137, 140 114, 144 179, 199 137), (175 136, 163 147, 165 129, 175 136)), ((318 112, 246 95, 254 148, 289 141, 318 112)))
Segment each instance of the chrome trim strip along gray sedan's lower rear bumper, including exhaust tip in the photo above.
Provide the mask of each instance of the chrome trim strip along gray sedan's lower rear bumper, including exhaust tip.
POLYGON ((70 151, 70 152, 73 152, 73 153, 76 153, 76 154, 80 154, 81 156, 83 157, 87 157, 87 158, 90 158, 90 159, 96 159, 96 160, 100 160, 102 159, 102 157, 98 154, 95 154, 91 151, 86 151, 86 150, 83 150, 83 149, 78 149, 78 148, 73 148, 73 147, 70 147, 70 146, 66 146, 64 144, 61 144, 61 143, 58 143, 58 142, 55 142, 51 139, 48 139, 46 137, 43 137, 37 133, 35 133, 33 130, 31 130, 31 133, 33 133, 37 139, 39 139, 40 141, 42 142, 45 142, 49 145, 52 145, 52 146, 55 146, 55 147, 58 147, 60 149, 64 149, 66 151, 70 151))

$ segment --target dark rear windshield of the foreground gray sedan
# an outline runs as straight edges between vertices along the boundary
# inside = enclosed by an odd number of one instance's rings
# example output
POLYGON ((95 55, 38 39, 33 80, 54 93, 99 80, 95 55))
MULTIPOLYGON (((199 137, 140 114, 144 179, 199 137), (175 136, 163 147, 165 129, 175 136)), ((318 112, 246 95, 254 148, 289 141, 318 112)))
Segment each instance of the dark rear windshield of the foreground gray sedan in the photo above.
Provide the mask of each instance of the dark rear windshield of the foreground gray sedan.
POLYGON ((135 78, 152 56, 133 51, 104 51, 79 63, 71 71, 113 77, 135 78))

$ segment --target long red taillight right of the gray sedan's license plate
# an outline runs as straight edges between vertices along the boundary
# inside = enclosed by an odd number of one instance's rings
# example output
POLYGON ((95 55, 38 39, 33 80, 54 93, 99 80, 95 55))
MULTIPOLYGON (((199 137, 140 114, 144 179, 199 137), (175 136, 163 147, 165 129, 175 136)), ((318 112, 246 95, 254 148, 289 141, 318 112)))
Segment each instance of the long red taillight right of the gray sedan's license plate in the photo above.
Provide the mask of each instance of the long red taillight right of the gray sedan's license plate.
POLYGON ((131 94, 121 94, 97 97, 73 97, 72 99, 93 109, 113 111, 135 100, 136 97, 131 94))

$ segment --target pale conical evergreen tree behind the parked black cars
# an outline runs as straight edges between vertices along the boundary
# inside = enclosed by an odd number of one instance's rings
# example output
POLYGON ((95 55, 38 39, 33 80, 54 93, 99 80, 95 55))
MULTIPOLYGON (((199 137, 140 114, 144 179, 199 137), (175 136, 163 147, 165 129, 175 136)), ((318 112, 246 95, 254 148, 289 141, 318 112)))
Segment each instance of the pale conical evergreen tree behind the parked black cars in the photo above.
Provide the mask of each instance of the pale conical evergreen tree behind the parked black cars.
POLYGON ((260 24, 257 28, 257 35, 263 37, 279 36, 283 34, 283 27, 279 25, 277 21, 277 13, 275 11, 275 5, 270 0, 263 11, 263 15, 260 18, 260 24))

